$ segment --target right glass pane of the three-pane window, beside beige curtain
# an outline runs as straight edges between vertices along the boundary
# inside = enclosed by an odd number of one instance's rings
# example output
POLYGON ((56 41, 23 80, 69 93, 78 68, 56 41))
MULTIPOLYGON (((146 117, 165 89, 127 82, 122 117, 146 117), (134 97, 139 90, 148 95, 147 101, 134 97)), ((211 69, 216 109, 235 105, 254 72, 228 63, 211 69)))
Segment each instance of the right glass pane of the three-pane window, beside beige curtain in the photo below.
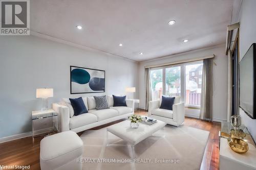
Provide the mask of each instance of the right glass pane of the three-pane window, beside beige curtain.
POLYGON ((186 105, 201 104, 203 63, 186 65, 186 105))

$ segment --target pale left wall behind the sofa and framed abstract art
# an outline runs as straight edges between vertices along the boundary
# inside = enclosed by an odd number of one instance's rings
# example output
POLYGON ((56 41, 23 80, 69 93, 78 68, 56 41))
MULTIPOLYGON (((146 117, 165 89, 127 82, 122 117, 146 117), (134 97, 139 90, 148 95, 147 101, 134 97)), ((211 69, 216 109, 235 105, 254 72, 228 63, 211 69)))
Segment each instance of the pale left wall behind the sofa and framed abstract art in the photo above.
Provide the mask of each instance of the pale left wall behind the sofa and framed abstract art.
POLYGON ((107 94, 123 94, 125 87, 138 89, 137 62, 36 36, 1 36, 0 138, 31 131, 31 111, 40 109, 36 88, 54 89, 50 104, 103 94, 70 94, 70 65, 105 70, 107 94))

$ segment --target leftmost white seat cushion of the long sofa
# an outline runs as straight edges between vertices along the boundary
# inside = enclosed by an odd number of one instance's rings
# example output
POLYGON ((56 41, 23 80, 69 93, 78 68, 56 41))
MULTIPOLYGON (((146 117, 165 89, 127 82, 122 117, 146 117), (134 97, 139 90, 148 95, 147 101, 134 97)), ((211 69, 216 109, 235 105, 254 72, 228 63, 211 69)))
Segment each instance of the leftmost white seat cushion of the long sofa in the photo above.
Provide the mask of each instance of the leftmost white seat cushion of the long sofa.
POLYGON ((80 114, 70 118, 70 129, 79 128, 97 122, 98 118, 92 113, 80 114))

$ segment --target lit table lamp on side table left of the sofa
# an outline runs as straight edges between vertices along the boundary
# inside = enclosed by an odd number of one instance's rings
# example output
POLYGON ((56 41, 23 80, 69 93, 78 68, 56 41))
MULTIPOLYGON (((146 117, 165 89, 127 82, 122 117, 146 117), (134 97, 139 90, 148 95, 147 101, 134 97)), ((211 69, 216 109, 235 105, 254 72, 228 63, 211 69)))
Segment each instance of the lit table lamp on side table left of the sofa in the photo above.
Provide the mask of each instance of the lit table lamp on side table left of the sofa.
POLYGON ((48 109, 48 98, 53 97, 53 88, 36 89, 36 98, 41 98, 41 110, 48 109))

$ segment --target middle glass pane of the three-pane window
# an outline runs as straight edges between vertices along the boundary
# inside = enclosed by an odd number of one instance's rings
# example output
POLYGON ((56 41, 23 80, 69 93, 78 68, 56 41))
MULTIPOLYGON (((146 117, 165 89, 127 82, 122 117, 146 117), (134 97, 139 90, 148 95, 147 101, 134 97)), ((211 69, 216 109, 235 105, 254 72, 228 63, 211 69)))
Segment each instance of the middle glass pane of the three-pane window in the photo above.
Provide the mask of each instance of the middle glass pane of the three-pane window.
POLYGON ((180 66, 165 69, 165 95, 179 96, 181 91, 180 66))

